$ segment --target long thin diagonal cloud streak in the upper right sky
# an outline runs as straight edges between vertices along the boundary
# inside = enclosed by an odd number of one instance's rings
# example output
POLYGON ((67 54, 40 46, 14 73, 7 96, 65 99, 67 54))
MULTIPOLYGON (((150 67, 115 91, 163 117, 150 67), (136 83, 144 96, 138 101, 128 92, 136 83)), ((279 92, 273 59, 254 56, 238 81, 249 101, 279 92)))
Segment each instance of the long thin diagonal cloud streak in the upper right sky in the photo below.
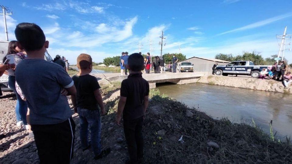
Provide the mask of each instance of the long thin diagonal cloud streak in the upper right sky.
POLYGON ((279 15, 279 16, 275 16, 275 17, 272 17, 272 18, 269 18, 269 19, 265 19, 265 20, 262 20, 262 21, 259 21, 259 22, 255 22, 255 23, 252 23, 252 24, 249 24, 249 25, 237 28, 237 29, 233 29, 233 30, 229 30, 229 31, 226 31, 226 32, 222 32, 220 34, 217 34, 217 36, 228 34, 228 33, 231 33, 231 32, 243 31, 243 30, 247 30, 247 29, 254 29, 254 28, 257 28, 257 27, 265 26, 267 24, 276 22, 276 21, 281 20, 281 19, 288 18, 290 16, 292 16, 291 12, 287 13, 287 14, 284 14, 284 15, 279 15))

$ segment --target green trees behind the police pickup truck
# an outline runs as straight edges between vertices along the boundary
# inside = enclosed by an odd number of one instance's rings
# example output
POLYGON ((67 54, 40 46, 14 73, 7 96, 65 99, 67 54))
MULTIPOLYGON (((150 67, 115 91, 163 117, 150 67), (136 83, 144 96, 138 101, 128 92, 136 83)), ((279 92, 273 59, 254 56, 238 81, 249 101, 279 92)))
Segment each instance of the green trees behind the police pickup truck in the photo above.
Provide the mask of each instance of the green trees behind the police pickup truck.
MULTIPOLYGON (((273 65, 276 61, 275 58, 278 57, 278 55, 271 55, 271 57, 263 58, 262 55, 260 55, 257 52, 243 52, 242 55, 233 56, 232 54, 223 54, 219 53, 215 56, 215 59, 219 60, 225 60, 225 61, 237 61, 237 60, 247 60, 252 61, 255 65, 273 65)), ((288 60, 284 57, 283 60, 288 60)), ((292 67, 292 64, 290 64, 290 67, 292 67)))

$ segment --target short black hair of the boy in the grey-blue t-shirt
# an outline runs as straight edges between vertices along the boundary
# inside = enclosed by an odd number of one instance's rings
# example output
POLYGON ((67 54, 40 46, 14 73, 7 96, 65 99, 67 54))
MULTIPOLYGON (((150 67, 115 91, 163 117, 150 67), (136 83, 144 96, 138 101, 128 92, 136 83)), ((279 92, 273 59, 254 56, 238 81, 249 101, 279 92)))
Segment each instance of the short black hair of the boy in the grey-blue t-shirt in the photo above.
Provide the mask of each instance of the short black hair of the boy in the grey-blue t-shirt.
POLYGON ((46 42, 43 30, 34 23, 19 23, 15 29, 15 36, 26 51, 40 50, 46 42))

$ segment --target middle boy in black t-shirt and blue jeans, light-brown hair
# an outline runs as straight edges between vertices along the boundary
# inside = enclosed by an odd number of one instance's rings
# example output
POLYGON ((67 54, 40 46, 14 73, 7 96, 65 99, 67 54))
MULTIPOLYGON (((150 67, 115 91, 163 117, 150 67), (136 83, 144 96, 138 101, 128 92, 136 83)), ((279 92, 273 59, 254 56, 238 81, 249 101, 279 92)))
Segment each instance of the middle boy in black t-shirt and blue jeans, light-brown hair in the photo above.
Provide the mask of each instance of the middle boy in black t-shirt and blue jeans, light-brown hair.
POLYGON ((99 92, 99 84, 96 77, 89 75, 92 71, 92 58, 88 54, 80 54, 77 58, 79 73, 73 76, 76 87, 76 96, 71 96, 74 111, 79 114, 80 140, 83 151, 92 146, 94 159, 100 159, 109 154, 110 149, 101 150, 100 132, 102 114, 106 114, 103 99, 99 92), (91 145, 88 143, 88 126, 91 131, 91 145))

